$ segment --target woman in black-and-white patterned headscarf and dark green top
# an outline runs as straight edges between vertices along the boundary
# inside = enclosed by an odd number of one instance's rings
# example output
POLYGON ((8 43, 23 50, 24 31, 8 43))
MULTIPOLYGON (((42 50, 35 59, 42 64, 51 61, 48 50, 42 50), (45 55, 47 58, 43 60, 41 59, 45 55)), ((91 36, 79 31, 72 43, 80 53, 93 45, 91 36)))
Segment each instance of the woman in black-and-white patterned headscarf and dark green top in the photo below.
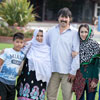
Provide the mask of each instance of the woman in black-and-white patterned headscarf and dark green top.
MULTIPOLYGON (((100 66, 100 45, 91 39, 92 29, 87 24, 80 25, 78 33, 81 65, 76 73, 72 90, 75 92, 77 100, 85 100, 85 90, 86 100, 94 100, 98 83, 98 67, 100 66)), ((72 53, 72 56, 75 56, 75 52, 72 53)))

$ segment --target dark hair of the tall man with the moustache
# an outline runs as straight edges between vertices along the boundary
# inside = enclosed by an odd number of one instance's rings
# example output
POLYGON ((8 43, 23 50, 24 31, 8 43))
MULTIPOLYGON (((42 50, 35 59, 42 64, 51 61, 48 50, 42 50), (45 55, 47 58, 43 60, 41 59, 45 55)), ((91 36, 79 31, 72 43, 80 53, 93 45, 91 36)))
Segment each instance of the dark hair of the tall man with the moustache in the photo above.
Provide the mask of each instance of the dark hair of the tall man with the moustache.
POLYGON ((62 8, 58 11, 58 17, 59 16, 63 16, 63 17, 68 17, 69 16, 71 18, 72 13, 67 7, 65 7, 65 8, 62 8))

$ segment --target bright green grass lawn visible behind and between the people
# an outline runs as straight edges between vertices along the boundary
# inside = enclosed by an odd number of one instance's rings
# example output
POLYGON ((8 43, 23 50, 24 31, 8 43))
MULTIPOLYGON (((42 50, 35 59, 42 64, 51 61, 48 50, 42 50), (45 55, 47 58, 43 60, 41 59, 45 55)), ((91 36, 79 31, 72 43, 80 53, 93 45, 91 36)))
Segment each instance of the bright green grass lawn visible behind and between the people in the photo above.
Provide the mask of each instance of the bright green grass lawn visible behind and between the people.
MULTIPOLYGON (((13 47, 12 44, 5 44, 5 43, 0 43, 0 50, 4 49, 4 48, 11 48, 13 47)), ((15 99, 17 100, 17 98, 15 99)), ((46 99, 47 100, 47 99, 46 99)), ((61 88, 59 89, 59 94, 58 94, 58 99, 57 100, 63 100, 62 99, 62 92, 61 92, 61 88)), ((76 100, 75 99, 75 95, 73 95, 73 100, 76 100)), ((95 100, 98 100, 98 92, 96 93, 96 98, 95 100)))

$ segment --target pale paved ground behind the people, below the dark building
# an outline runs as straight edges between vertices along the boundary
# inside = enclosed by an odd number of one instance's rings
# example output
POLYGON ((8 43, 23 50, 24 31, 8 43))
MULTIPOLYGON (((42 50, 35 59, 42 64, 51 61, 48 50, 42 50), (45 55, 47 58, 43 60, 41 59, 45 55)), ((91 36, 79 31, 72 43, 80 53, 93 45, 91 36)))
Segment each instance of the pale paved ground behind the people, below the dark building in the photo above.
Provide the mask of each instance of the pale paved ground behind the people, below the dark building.
MULTIPOLYGON (((36 28, 41 28, 44 31, 48 30, 50 27, 57 25, 57 22, 31 22, 28 23, 26 28, 29 29, 36 29, 36 28)), ((78 29, 79 23, 71 23, 71 25, 78 29)), ((94 39, 97 41, 100 41, 100 32, 97 31, 97 26, 90 25, 92 29, 94 30, 94 39)))

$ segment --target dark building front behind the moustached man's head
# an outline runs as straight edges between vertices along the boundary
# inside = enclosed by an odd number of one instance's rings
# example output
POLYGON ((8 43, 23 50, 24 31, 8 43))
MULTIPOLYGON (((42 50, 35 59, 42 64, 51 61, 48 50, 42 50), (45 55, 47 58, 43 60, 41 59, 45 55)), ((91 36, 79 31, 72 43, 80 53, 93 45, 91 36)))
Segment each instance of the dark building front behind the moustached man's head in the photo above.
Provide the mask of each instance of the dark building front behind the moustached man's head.
POLYGON ((90 0, 75 0, 73 2, 62 1, 57 2, 50 7, 50 2, 47 4, 46 20, 56 20, 57 11, 62 7, 68 7, 72 11, 73 22, 87 22, 92 23, 93 13, 94 13, 94 3, 90 0), (65 3, 66 2, 66 3, 65 3), (62 4, 63 3, 63 4, 62 4), (64 4, 65 3, 65 4, 64 4), (49 5, 49 6, 48 6, 49 5))

